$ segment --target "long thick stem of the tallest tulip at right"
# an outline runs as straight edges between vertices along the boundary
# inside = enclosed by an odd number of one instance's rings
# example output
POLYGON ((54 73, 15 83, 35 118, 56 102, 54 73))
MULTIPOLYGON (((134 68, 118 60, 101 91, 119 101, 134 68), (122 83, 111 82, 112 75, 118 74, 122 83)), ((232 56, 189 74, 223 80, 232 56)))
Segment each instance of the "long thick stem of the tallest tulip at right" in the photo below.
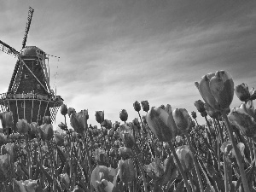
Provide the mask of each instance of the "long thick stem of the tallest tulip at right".
POLYGON ((240 154, 239 149, 237 148, 236 141, 235 141, 235 138, 233 136, 233 130, 232 130, 232 127, 230 126, 230 121, 229 121, 225 111, 221 111, 221 113, 222 113, 222 116, 224 118, 224 122, 226 124, 226 128, 227 128, 227 130, 229 132, 231 143, 232 143, 233 148, 235 150, 237 165, 239 166, 241 183, 243 185, 243 189, 244 189, 244 191, 250 191, 248 183, 247 183, 246 173, 244 171, 244 164, 241 161, 241 154, 240 154))

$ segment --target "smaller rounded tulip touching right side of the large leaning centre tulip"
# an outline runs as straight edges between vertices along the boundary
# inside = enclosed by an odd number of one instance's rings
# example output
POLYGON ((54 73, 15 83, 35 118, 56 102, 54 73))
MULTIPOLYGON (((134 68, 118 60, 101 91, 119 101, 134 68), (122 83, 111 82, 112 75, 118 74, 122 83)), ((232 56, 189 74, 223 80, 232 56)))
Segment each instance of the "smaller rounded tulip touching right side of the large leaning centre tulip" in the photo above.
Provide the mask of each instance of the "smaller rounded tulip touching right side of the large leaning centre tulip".
POLYGON ((189 129, 189 113, 185 108, 176 108, 173 112, 173 119, 177 128, 181 131, 186 131, 189 129))

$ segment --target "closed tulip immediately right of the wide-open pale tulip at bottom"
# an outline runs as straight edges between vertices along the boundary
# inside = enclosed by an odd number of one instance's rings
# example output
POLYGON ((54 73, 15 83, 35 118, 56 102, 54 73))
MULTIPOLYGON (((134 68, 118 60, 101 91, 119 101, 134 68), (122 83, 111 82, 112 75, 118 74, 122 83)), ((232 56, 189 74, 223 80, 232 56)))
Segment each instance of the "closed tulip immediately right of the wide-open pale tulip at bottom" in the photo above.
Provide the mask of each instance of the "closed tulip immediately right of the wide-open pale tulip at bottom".
POLYGON ((119 160, 118 167, 118 174, 123 183, 131 183, 135 179, 135 169, 133 166, 133 161, 131 159, 119 160))

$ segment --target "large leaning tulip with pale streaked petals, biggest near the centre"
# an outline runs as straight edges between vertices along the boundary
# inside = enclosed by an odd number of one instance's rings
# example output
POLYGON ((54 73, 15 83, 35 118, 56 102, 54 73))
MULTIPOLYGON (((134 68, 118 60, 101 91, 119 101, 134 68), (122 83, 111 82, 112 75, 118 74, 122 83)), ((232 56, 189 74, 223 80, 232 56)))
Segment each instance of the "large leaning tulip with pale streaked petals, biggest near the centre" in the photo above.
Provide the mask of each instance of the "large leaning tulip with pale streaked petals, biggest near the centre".
POLYGON ((165 109, 151 108, 147 115, 146 120, 151 131, 160 142, 170 142, 175 139, 177 134, 177 126, 175 125, 172 117, 172 108, 166 105, 165 109))

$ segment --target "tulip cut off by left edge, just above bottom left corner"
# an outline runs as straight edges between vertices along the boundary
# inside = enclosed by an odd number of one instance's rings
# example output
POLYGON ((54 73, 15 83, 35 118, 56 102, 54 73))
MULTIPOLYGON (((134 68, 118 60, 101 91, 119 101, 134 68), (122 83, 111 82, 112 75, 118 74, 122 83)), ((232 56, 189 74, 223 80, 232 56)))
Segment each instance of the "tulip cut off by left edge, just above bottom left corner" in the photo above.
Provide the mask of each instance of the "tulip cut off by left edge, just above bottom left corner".
POLYGON ((10 169, 10 155, 0 155, 0 182, 4 182, 10 177, 10 169))

